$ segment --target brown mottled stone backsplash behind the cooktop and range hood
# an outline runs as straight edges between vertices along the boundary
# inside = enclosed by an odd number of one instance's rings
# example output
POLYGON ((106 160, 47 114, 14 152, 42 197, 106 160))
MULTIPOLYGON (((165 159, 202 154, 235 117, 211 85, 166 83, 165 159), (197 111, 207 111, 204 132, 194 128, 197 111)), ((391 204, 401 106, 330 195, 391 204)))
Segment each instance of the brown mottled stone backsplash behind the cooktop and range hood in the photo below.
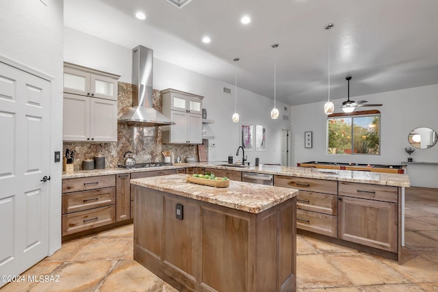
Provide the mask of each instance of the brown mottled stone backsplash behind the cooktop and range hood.
MULTIPOLYGON (((133 98, 133 85, 118 82, 118 117, 122 116, 131 107, 133 98)), ((153 90, 153 108, 162 112, 162 94, 159 90, 153 90)), ((123 155, 127 151, 133 152, 137 163, 162 162, 163 151, 172 151, 175 157, 194 157, 199 161, 198 147, 196 145, 162 144, 161 127, 133 127, 124 123, 117 125, 117 142, 89 143, 68 142, 63 143, 63 153, 66 149, 75 151, 75 170, 82 169, 84 159, 93 159, 96 155, 105 156, 105 168, 115 168, 123 163, 123 155)), ((203 140, 206 156, 208 157, 208 140, 203 140)))

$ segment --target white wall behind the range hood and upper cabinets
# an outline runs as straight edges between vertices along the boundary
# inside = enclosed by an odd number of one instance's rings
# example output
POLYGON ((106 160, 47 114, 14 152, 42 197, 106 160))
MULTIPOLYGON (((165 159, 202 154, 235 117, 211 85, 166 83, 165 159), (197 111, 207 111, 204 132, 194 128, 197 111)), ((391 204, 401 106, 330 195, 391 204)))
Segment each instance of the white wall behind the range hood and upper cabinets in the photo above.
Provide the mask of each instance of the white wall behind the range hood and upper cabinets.
MULTIPOLYGON (((65 28, 64 47, 66 62, 112 72, 121 75, 120 81, 131 82, 132 48, 121 47, 69 27, 65 28), (83 43, 87 46, 77 45, 83 43)), ((230 75, 234 75, 234 72, 230 72, 230 75)), ((153 88, 174 88, 205 96, 203 107, 207 109, 207 118, 215 120, 214 124, 205 125, 207 135, 215 137, 214 140, 209 140, 209 161, 225 161, 230 154, 235 155, 240 145, 240 123, 231 121, 235 105, 234 85, 154 58, 153 88), (223 94, 223 86, 231 88, 232 94, 223 94), (211 147, 212 143, 216 146, 211 147)), ((290 129, 290 122, 282 119, 272 120, 270 110, 273 106, 274 101, 270 98, 241 88, 237 90, 237 112, 240 114, 240 121, 266 127, 266 151, 245 151, 250 163, 254 163, 256 156, 259 157, 260 163, 281 162, 281 129, 290 129)), ((276 107, 280 111, 280 117, 289 114, 289 109, 284 110, 283 103, 277 102, 276 107)))

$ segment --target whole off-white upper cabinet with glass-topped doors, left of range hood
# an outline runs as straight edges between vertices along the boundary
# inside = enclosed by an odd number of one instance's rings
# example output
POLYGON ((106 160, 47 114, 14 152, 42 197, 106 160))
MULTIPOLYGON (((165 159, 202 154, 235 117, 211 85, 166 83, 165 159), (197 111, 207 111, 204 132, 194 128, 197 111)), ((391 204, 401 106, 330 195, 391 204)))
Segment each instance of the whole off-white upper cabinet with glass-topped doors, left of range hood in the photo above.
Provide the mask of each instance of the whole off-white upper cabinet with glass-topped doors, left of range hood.
POLYGON ((117 142, 118 76, 64 64, 62 140, 117 142))

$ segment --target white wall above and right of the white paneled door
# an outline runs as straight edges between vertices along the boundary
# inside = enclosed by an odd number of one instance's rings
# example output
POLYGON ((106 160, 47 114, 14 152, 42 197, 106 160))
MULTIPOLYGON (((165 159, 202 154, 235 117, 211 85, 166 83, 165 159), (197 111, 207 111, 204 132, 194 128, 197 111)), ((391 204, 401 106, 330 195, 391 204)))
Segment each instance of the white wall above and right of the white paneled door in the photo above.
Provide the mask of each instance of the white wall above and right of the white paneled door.
MULTIPOLYGON (((50 157, 62 150, 64 1, 3 0, 0 55, 53 77, 50 157)), ((49 254, 61 248, 62 163, 50 163, 49 254)))

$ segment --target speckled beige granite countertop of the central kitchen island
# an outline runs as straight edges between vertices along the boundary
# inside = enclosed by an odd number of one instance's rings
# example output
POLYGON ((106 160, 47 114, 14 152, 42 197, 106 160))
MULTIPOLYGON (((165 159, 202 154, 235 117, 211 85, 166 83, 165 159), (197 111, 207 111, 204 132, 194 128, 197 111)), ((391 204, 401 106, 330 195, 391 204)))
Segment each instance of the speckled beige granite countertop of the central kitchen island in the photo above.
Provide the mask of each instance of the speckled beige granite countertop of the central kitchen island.
POLYGON ((185 181, 187 174, 132 179, 132 185, 192 198, 248 213, 261 213, 298 195, 298 189, 230 181, 229 187, 209 187, 185 181))

